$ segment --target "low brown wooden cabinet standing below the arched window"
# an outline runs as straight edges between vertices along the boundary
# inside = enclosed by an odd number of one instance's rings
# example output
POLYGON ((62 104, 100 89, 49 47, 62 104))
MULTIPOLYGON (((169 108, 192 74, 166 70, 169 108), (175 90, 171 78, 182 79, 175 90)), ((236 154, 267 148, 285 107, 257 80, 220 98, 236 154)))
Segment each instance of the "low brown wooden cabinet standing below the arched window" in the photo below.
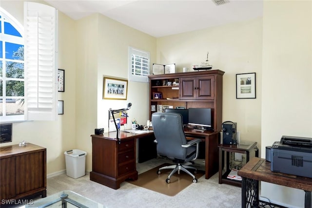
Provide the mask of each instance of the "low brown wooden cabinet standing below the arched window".
POLYGON ((0 203, 38 193, 46 197, 46 148, 30 143, 0 147, 0 203))

